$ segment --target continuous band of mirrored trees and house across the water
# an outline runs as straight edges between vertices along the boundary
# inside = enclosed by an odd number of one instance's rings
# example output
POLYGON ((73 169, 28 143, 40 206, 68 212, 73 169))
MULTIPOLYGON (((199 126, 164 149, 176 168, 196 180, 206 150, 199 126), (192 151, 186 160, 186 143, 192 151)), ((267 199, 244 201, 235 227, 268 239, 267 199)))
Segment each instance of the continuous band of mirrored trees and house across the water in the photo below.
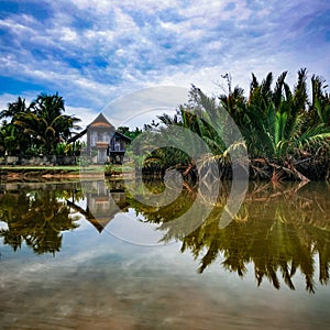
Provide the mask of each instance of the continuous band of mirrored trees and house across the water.
MULTIPOLYGON (((147 183, 147 187, 154 191, 161 187, 162 190, 160 183, 147 183)), ((328 284, 330 201, 326 184, 277 187, 251 184, 234 221, 220 229, 219 218, 224 211, 229 190, 223 184, 221 197, 210 216, 183 237, 173 220, 190 208, 196 189, 185 185, 174 202, 158 208, 136 201, 120 180, 89 182, 84 194, 78 183, 7 185, 0 194, 0 221, 7 228, 1 229, 0 235, 13 250, 25 242, 38 254, 55 254, 62 246, 62 233, 76 229, 79 217, 84 216, 102 232, 119 212, 134 209, 136 217, 141 215, 146 223, 158 226, 164 242, 179 240, 182 252, 189 251, 198 260, 199 273, 218 263, 244 277, 248 265, 252 264, 257 285, 268 279, 275 288, 283 282, 295 289, 295 275, 299 272, 308 292, 315 292, 317 280, 328 284)), ((198 211, 195 217, 199 217, 198 211)))

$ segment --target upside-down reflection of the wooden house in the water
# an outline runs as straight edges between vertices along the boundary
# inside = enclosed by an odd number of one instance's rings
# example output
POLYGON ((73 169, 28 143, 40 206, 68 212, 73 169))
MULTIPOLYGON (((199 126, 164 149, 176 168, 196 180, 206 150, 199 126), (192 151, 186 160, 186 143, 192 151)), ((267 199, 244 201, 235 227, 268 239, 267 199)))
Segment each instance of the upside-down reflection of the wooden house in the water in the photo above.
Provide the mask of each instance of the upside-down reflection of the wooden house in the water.
POLYGON ((123 189, 108 189, 105 180, 85 182, 84 194, 87 199, 86 210, 82 210, 74 202, 69 202, 72 207, 85 216, 99 232, 101 232, 114 216, 128 207, 125 193, 123 189))

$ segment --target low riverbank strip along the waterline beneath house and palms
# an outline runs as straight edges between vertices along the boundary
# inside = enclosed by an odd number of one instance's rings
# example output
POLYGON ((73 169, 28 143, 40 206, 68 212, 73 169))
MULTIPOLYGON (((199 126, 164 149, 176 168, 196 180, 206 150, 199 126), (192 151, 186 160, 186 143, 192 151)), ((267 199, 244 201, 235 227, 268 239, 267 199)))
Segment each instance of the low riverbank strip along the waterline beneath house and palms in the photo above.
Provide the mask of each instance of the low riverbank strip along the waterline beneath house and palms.
MULTIPOLYGON (((189 178, 189 172, 186 168, 176 168, 183 173, 186 178, 189 178)), ((195 167, 191 168, 196 170, 195 167)), ((231 165, 223 167, 222 179, 231 179, 232 170, 231 165)), ((143 168, 142 173, 151 177, 163 177, 166 168, 148 166, 143 168)), ((191 172, 191 170, 190 170, 191 172)), ((266 180, 266 182, 330 182, 330 163, 315 162, 314 160, 305 160, 297 164, 276 164, 267 160, 258 158, 252 160, 249 168, 250 180, 266 180), (307 162, 309 161, 309 162, 307 162)), ((63 179, 63 178, 122 178, 134 177, 134 168, 121 165, 0 165, 0 180, 37 180, 37 179, 63 179)), ((196 174, 197 177, 197 174, 196 174)))

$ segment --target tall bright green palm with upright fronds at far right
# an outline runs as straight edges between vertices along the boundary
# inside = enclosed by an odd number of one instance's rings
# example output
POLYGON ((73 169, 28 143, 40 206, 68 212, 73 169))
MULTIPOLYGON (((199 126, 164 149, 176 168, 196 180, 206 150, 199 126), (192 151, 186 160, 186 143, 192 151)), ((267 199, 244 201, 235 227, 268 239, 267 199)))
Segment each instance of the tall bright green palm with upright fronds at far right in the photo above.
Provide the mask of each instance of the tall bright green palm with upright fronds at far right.
POLYGON ((317 90, 320 84, 314 77, 314 112, 308 111, 306 68, 298 72, 298 81, 293 91, 285 82, 286 75, 285 72, 277 78, 274 91, 271 88, 272 73, 261 84, 252 75, 248 102, 242 101, 242 92, 238 89, 229 96, 221 96, 220 100, 239 125, 252 160, 262 158, 273 167, 274 173, 279 168, 282 174, 307 179, 296 165, 305 154, 312 154, 311 150, 329 140, 330 127, 326 121, 330 108, 322 98, 323 110, 319 109, 320 97, 317 96, 320 92, 317 90), (316 112, 322 113, 321 120, 310 120, 317 117, 316 112))

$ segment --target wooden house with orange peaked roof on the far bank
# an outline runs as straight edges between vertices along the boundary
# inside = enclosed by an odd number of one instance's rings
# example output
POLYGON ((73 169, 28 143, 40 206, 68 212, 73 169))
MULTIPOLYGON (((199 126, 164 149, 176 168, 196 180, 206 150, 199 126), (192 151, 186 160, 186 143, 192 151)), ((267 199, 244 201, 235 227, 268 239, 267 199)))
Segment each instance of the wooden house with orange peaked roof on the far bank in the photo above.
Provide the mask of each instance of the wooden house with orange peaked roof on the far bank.
POLYGON ((122 163, 125 144, 130 138, 117 132, 114 127, 100 113, 87 129, 87 153, 95 163, 122 163))

